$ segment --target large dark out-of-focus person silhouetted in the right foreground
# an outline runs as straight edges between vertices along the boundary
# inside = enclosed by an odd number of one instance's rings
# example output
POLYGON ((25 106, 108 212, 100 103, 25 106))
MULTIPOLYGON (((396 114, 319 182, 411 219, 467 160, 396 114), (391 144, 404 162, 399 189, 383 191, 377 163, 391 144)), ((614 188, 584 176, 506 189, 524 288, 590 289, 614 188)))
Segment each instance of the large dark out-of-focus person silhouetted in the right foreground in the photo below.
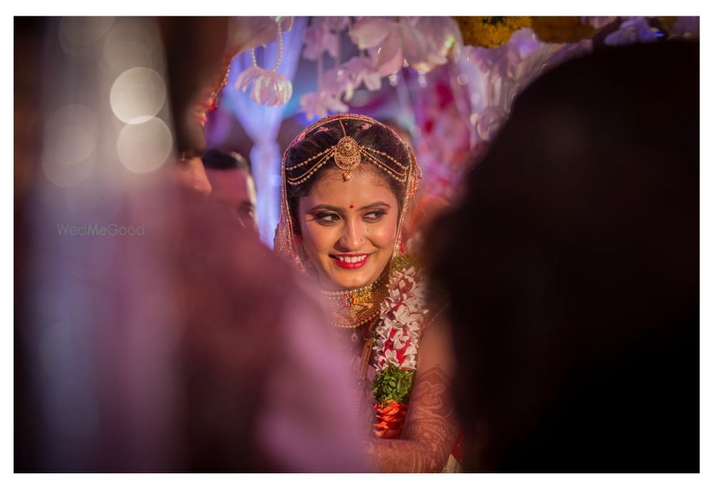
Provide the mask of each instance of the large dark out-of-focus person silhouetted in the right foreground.
POLYGON ((466 470, 699 471, 699 48, 545 74, 438 223, 466 470))

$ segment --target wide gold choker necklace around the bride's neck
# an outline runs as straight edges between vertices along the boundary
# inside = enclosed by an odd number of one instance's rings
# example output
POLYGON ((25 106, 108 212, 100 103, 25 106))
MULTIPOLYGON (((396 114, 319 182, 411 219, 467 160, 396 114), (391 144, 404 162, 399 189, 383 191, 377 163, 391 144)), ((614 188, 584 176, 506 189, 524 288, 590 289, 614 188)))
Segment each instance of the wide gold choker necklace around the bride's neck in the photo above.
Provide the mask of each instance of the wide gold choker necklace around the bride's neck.
POLYGON ((332 325, 342 329, 356 329, 379 315, 379 305, 386 299, 389 267, 386 267, 376 282, 359 289, 326 291, 322 297, 329 304, 332 325))

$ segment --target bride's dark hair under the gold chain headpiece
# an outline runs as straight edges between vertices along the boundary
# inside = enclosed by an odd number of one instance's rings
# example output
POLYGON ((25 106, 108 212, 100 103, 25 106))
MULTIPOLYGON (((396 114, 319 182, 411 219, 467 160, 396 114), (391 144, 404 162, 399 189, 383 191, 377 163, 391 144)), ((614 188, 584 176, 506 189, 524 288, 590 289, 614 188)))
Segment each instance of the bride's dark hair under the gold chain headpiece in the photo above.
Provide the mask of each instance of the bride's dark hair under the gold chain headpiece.
MULTIPOLYGON (((330 120, 320 125, 314 130, 310 131, 305 135, 304 139, 297 143, 294 143, 287 150, 287 160, 286 167, 291 165, 296 165, 302 163, 309 158, 312 158, 318 153, 327 148, 331 148, 336 145, 340 139, 344 137, 344 132, 342 131, 342 125, 339 124, 340 120, 330 120)), ((409 148, 404 144, 394 132, 387 128, 385 125, 379 123, 369 123, 364 120, 350 120, 342 119, 342 124, 344 124, 344 130, 347 135, 354 138, 356 143, 364 146, 365 148, 371 148, 374 150, 383 151, 387 155, 394 158, 402 165, 409 165, 409 148)), ((379 158, 379 160, 386 165, 386 168, 394 170, 396 173, 403 173, 404 170, 398 168, 395 163, 393 163, 389 158, 379 158)), ((396 195, 396 200, 399 201, 399 211, 401 210, 401 205, 403 204, 403 197, 406 191, 406 184, 399 182, 389 175, 385 175, 383 170, 377 168, 375 165, 371 165, 369 160, 366 158, 361 158, 361 165, 356 171, 363 171, 364 164, 368 164, 371 168, 375 168, 381 172, 381 175, 386 177, 386 182, 394 195, 396 195)), ((292 222, 294 223, 294 231, 299 232, 299 220, 297 219, 297 207, 299 205, 300 197, 305 197, 309 195, 309 191, 312 190, 312 186, 317 183, 327 170, 331 168, 336 168, 334 164, 327 164, 319 168, 312 177, 309 177, 306 181, 300 183, 299 185, 287 185, 287 205, 289 206, 289 212, 292 217, 292 222)), ((304 173, 306 169, 304 167, 295 168, 294 170, 285 170, 286 175, 284 177, 297 177, 304 173)))

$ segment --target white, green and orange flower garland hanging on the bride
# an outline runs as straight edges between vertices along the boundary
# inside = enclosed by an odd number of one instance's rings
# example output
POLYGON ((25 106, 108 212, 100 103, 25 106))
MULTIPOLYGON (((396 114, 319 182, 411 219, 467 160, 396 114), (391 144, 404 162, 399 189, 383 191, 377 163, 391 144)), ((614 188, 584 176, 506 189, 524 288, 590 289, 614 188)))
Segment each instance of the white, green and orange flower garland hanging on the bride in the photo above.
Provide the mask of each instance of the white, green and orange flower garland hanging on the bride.
POLYGON ((394 272, 389 290, 389 297, 381 304, 374 345, 374 434, 380 438, 399 438, 416 371, 426 302, 423 284, 414 267, 394 272))

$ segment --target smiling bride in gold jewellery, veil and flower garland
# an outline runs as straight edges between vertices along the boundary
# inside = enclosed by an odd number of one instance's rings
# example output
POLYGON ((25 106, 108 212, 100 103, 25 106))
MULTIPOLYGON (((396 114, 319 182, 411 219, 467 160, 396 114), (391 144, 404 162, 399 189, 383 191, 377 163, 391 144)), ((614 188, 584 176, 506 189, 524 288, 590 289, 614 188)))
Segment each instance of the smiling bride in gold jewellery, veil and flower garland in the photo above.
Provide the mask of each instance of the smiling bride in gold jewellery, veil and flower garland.
POLYGON ((282 158, 275 249, 317 282, 351 345, 366 455, 384 472, 454 465, 450 331, 404 249, 420 177, 411 148, 364 115, 318 120, 282 158))

